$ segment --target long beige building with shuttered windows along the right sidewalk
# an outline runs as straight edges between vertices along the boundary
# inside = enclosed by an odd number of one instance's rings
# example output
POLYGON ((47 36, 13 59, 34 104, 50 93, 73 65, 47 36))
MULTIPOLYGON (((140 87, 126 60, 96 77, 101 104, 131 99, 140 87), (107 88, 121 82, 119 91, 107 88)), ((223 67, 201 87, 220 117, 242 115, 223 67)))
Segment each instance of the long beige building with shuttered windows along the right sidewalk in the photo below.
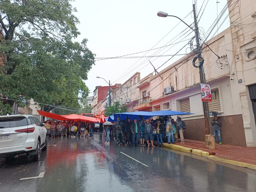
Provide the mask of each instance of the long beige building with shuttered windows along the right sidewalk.
MULTIPOLYGON (((231 26, 207 41, 209 47, 202 48, 205 77, 212 91, 209 111, 221 113, 224 144, 256 146, 256 1, 234 2, 229 12, 231 26)), ((138 94, 130 97, 127 111, 194 113, 182 116, 187 124, 185 138, 204 141, 199 69, 193 67, 193 57, 179 59, 160 71, 161 77, 149 74, 130 94, 124 90, 124 95, 138 94)))

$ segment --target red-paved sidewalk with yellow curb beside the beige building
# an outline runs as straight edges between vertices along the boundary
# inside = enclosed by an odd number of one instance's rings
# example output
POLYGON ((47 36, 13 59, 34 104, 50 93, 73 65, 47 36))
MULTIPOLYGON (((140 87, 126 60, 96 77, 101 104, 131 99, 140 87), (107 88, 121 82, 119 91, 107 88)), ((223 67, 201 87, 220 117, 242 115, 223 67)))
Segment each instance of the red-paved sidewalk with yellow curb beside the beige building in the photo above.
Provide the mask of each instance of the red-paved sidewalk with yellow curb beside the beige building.
POLYGON ((206 156, 208 159, 256 170, 256 147, 241 147, 228 144, 216 144, 215 149, 206 149, 205 143, 186 140, 185 143, 164 143, 164 147, 206 156))

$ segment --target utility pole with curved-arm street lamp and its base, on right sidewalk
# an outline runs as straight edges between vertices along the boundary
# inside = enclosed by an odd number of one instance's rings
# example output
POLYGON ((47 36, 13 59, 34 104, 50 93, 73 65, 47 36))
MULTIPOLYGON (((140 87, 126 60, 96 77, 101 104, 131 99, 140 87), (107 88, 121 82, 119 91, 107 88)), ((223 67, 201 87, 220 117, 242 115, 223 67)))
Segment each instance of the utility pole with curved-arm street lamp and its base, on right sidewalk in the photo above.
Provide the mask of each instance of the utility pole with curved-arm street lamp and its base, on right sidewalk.
MULTIPOLYGON (((193 4, 193 14, 194 14, 194 29, 192 27, 190 27, 187 23, 185 23, 181 18, 177 17, 177 16, 174 16, 174 15, 168 15, 168 13, 165 13, 163 11, 159 11, 157 13, 157 16, 159 17, 176 17, 178 18, 179 20, 181 20, 185 25, 187 25, 190 29, 192 29, 194 32, 195 32, 195 40, 196 40, 196 48, 197 48, 197 56, 193 59, 193 66, 196 67, 196 68, 199 68, 199 74, 200 74, 200 83, 202 84, 205 84, 205 74, 203 72, 203 58, 202 58, 202 55, 201 55, 201 46, 200 46, 200 43, 199 43, 199 31, 198 31, 198 26, 197 26, 197 18, 196 18, 196 14, 195 14, 195 5, 193 4), (199 65, 196 66, 195 65, 195 60, 198 59, 199 61, 199 65)), ((204 115, 204 123, 205 123, 205 133, 206 133, 206 136, 205 136, 205 141, 207 140, 206 137, 210 136, 210 116, 209 116, 209 106, 208 106, 208 102, 203 102, 203 115, 204 115)), ((210 140, 212 140, 212 138, 210 138, 210 140)), ((207 142, 205 142, 207 143, 207 142)), ((209 143, 209 142, 208 142, 209 143)), ((214 143, 214 148, 215 148, 215 142, 214 142, 214 139, 213 139, 213 143, 214 143)), ((210 148, 210 146, 208 146, 206 144, 206 147, 207 148, 210 148)))

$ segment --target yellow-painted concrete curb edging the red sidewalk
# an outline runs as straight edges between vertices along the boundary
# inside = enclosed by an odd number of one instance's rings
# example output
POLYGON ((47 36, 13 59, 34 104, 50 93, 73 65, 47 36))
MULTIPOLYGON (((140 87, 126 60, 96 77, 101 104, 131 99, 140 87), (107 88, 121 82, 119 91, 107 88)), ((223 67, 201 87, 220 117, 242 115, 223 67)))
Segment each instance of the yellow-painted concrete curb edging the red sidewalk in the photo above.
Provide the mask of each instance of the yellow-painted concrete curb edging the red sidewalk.
POLYGON ((177 144, 164 143, 163 146, 166 147, 166 148, 171 148, 171 149, 175 149, 175 150, 179 150, 179 151, 183 151, 183 152, 188 152, 188 153, 193 153, 193 154, 196 154, 196 155, 205 156, 207 159, 211 159, 213 161, 217 161, 217 162, 221 162, 221 163, 227 163, 227 164, 236 165, 236 166, 239 166, 239 167, 250 168, 250 169, 256 170, 256 165, 254 165, 254 164, 244 163, 244 162, 240 162, 240 161, 234 161, 234 160, 230 160, 230 159, 224 159, 224 158, 221 158, 221 157, 216 157, 216 156, 213 156, 213 155, 209 155, 209 152, 207 152, 207 151, 202 151, 202 150, 199 150, 199 149, 192 149, 192 148, 177 145, 177 144))

